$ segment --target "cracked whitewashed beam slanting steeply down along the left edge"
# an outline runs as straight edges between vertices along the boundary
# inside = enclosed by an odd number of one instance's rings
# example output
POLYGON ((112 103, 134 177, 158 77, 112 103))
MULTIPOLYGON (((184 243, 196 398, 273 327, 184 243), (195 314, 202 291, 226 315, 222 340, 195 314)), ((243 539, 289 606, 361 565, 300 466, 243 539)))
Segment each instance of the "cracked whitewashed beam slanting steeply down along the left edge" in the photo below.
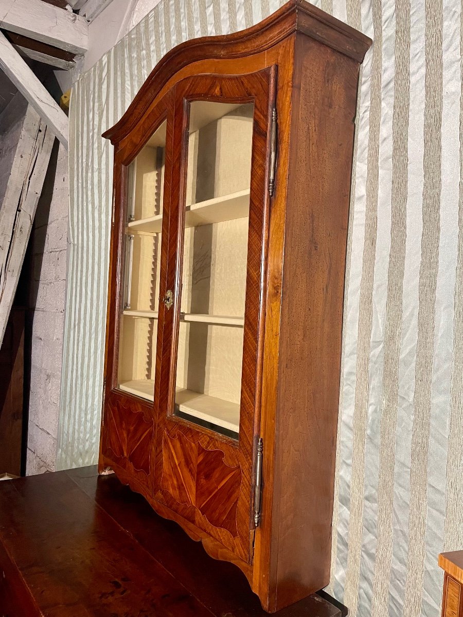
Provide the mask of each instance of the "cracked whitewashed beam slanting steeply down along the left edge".
POLYGON ((0 207, 0 345, 13 304, 54 135, 28 106, 0 207))

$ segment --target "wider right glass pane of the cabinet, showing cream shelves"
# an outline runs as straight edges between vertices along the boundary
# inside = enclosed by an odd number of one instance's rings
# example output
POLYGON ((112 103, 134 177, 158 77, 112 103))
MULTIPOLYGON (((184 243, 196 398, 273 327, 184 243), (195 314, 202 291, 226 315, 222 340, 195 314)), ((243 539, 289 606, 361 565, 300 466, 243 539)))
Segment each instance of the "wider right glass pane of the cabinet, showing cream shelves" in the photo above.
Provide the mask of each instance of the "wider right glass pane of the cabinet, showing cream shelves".
POLYGON ((175 415, 238 438, 253 104, 190 104, 175 415))

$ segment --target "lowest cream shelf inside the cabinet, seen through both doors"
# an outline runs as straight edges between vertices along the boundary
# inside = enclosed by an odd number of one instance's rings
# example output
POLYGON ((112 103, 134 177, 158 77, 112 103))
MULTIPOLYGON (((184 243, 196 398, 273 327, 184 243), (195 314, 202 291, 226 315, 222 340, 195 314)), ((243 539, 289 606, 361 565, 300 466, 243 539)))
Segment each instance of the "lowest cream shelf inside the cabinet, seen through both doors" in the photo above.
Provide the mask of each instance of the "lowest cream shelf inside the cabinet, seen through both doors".
MULTIPOLYGON (((130 392, 143 399, 154 400, 154 380, 137 379, 119 384, 124 392, 130 392)), ((175 405, 182 413, 204 420, 238 433, 240 430, 240 405, 229 400, 217 399, 215 396, 200 394, 191 390, 177 388, 175 405)))

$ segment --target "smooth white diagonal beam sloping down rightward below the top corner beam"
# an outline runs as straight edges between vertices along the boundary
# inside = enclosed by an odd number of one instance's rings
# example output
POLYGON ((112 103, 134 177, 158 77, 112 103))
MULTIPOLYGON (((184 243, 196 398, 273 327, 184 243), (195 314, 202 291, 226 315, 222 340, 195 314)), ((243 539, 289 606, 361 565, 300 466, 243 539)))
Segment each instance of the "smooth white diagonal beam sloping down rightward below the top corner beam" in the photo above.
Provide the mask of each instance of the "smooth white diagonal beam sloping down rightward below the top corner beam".
POLYGON ((49 130, 67 149, 69 135, 67 115, 1 32, 0 67, 36 112, 45 120, 49 130))

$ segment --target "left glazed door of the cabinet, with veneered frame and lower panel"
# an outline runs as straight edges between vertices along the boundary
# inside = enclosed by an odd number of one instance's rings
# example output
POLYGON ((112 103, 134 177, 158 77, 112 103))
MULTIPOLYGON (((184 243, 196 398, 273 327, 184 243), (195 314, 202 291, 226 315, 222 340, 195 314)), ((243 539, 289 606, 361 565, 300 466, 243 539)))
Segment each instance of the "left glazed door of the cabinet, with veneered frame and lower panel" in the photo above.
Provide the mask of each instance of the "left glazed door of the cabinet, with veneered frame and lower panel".
MULTIPOLYGON (((173 92, 115 151, 102 447, 131 486, 151 486, 159 294, 167 268, 173 92), (114 290, 114 291, 111 291, 114 290)), ((146 492, 146 489, 145 489, 146 492)))

